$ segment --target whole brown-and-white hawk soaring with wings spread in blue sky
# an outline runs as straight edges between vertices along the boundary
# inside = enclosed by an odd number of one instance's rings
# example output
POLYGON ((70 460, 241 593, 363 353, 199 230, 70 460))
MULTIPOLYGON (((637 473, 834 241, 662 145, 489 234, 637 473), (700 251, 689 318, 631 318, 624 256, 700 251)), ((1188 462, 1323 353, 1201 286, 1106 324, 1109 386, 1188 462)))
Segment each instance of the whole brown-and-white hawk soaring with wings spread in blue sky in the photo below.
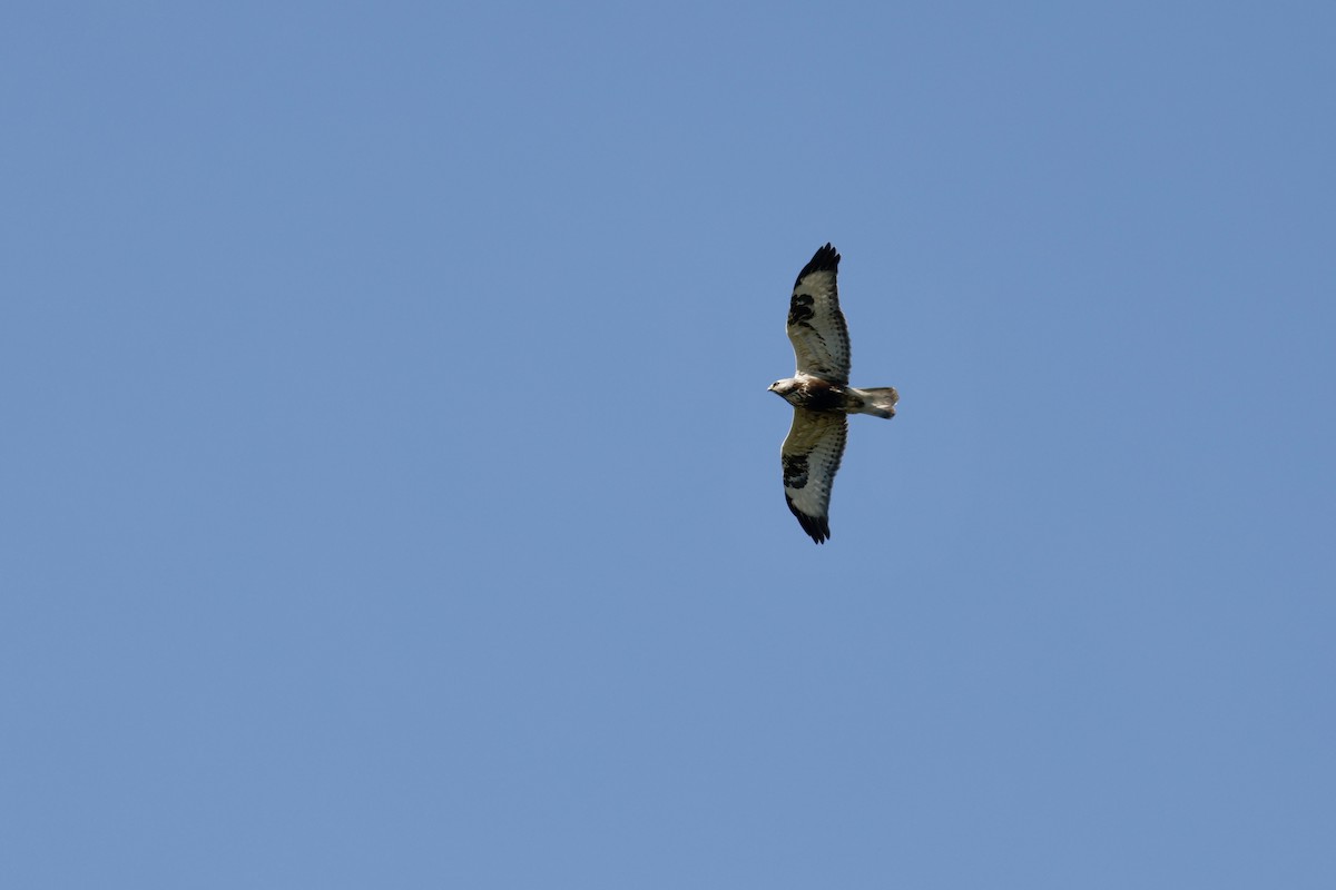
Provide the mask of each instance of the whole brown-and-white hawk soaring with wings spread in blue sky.
POLYGON ((844 455, 850 414, 894 418, 899 394, 894 387, 855 390, 848 384, 848 326, 839 311, 835 275, 839 254, 826 244, 798 274, 788 303, 788 339, 798 371, 770 384, 770 391, 794 406, 780 458, 784 500, 812 540, 831 536, 831 484, 844 455))

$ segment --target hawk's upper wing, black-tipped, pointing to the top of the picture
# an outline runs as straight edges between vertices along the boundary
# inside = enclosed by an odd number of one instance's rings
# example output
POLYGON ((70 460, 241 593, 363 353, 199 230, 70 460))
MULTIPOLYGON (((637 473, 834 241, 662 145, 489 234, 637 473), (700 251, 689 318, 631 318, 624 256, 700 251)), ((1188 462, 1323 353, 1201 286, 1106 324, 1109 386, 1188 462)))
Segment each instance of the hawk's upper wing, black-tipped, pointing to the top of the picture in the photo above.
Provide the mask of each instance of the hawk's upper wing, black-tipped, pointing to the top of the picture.
POLYGON ((839 311, 838 272, 839 254, 827 244, 798 274, 788 302, 788 339, 799 374, 848 383, 848 326, 839 311))

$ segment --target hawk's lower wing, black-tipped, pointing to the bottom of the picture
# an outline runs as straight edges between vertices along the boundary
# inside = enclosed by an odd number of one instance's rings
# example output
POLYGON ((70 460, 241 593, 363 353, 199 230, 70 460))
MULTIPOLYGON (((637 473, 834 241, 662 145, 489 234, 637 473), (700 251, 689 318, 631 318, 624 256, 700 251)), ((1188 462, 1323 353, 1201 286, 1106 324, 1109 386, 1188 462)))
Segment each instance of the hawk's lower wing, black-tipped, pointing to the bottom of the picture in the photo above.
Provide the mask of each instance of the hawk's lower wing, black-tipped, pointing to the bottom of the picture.
POLYGON ((831 486, 844 456, 847 432, 848 420, 843 414, 794 408, 794 426, 780 451, 784 500, 816 543, 831 536, 831 486))

